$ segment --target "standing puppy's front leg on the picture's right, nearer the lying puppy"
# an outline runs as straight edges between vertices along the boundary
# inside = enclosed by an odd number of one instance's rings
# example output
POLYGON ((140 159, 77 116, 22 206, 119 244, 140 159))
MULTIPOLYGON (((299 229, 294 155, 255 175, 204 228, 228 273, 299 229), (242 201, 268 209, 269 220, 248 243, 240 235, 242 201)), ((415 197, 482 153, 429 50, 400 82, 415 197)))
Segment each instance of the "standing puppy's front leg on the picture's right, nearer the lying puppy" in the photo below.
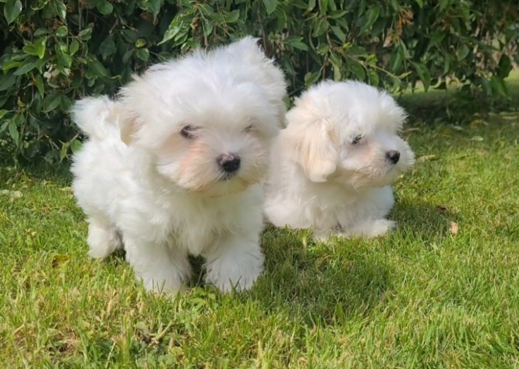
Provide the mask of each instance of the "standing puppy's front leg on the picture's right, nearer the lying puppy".
POLYGON ((259 237, 250 234, 226 234, 204 254, 206 283, 214 284, 221 292, 252 287, 263 272, 263 253, 259 237))

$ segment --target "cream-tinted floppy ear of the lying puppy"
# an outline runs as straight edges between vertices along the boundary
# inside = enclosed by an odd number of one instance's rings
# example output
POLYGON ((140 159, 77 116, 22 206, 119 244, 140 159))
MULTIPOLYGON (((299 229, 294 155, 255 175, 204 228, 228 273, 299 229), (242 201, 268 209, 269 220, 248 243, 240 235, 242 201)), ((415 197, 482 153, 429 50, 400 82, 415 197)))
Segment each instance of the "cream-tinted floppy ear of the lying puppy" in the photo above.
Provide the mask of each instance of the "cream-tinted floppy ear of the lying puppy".
POLYGON ((326 119, 304 125, 288 125, 289 139, 295 161, 301 165, 312 182, 326 182, 337 169, 337 148, 332 139, 332 127, 326 119))

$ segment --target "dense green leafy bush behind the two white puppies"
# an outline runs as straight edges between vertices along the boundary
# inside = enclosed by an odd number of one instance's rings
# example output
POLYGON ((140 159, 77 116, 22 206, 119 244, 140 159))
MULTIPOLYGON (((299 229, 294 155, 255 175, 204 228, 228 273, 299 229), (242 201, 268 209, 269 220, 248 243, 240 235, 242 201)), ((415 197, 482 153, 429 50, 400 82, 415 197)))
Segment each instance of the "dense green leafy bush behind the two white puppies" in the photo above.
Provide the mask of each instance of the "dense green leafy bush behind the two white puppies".
POLYGON ((393 90, 454 79, 496 96, 512 65, 502 51, 519 38, 514 0, 0 0, 0 11, 0 153, 47 161, 79 146, 74 99, 113 94, 195 46, 261 37, 291 95, 356 78, 393 90))

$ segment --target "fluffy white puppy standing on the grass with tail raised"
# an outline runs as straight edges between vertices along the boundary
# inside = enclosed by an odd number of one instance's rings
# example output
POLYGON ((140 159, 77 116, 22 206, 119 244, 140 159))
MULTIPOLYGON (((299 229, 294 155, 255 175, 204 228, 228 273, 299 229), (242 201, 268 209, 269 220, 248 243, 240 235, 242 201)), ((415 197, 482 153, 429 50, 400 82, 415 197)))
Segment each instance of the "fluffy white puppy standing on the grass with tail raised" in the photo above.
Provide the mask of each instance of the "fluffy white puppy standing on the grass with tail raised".
POLYGON ((262 182, 286 85, 256 39, 154 65, 115 101, 86 98, 73 189, 89 255, 124 247, 144 287, 174 292, 204 256, 206 282, 248 289, 263 270, 262 182))

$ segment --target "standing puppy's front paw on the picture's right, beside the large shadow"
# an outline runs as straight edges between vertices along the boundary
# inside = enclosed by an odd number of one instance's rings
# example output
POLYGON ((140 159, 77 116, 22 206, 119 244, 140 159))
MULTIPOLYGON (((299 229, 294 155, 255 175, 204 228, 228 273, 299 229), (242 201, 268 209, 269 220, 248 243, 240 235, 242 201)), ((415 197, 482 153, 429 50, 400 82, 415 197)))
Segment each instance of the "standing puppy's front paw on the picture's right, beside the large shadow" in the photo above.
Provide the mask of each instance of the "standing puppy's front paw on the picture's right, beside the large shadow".
POLYGON ((259 245, 249 249, 234 249, 206 265, 206 283, 218 287, 221 292, 232 289, 250 289, 263 272, 263 254, 259 245))

